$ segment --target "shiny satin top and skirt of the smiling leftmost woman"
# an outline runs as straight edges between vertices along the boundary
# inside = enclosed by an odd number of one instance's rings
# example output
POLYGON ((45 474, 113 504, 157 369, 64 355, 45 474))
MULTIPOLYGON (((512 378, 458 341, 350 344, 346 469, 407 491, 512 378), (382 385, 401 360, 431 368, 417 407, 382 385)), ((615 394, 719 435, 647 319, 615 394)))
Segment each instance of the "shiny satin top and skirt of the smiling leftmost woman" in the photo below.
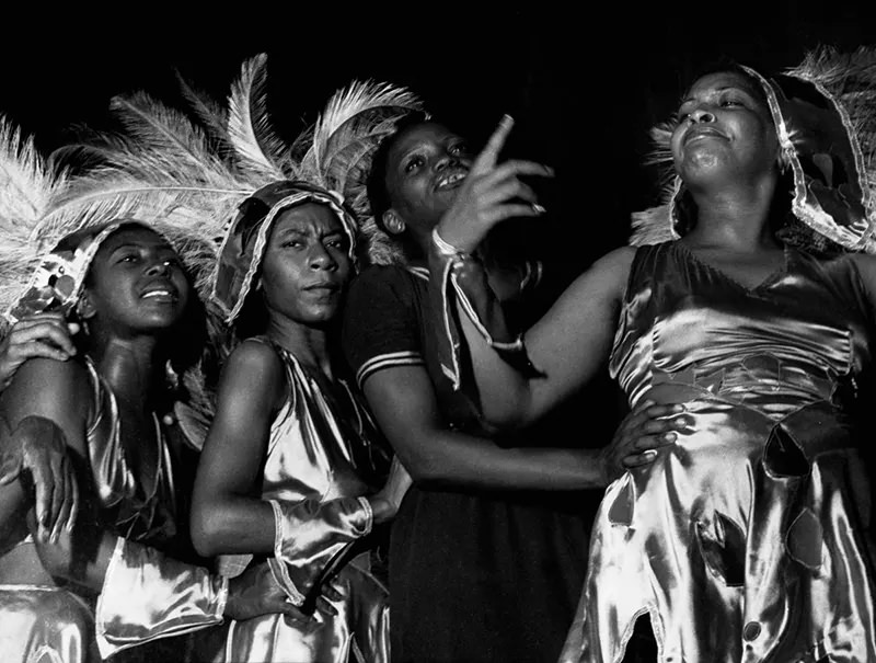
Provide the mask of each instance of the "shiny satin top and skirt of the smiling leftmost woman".
MULTIPOLYGON (((112 391, 104 385, 90 361, 85 367, 92 388, 91 421, 87 439, 89 462, 100 500, 100 519, 119 536, 150 545, 168 545, 176 535, 175 494, 171 456, 155 422, 158 465, 150 468, 150 479, 128 462, 119 437, 118 409, 112 391)), ((18 547, 33 548, 30 536, 18 547)), ((36 551, 32 550, 36 560, 36 551)), ((173 583, 172 579, 166 580, 173 583)), ((95 644, 96 596, 77 594, 58 586, 0 586, 0 653, 10 663, 96 663, 101 661, 95 644)), ((126 606, 105 606, 125 614, 126 606)), ((158 610, 154 621, 164 615, 158 610)), ((141 625, 132 624, 131 630, 141 625)), ((180 653, 180 649, 175 650, 180 653)), ((145 655, 137 652, 136 656, 145 655)), ((135 658, 134 650, 115 660, 135 658)), ((147 660, 147 659, 142 659, 147 660)))

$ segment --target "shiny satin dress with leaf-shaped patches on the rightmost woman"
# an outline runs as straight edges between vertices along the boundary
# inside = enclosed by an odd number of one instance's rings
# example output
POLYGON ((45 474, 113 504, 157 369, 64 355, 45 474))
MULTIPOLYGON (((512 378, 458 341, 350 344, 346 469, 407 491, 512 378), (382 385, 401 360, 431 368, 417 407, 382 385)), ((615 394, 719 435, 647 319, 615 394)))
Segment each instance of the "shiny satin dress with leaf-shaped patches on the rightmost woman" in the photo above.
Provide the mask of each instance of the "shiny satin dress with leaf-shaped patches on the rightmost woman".
POLYGON ((610 369, 693 424, 609 487, 562 661, 622 661, 641 617, 660 662, 876 661, 873 330, 848 256, 787 248, 747 288, 680 242, 637 250, 610 369))

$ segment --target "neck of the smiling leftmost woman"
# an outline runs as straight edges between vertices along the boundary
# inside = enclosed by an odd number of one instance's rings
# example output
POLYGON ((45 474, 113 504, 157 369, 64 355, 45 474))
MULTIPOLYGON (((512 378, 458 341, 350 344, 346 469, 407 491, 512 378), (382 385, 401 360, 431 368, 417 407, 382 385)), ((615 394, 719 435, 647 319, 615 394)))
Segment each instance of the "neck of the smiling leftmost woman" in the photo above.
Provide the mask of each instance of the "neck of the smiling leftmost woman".
POLYGON ((164 357, 153 336, 137 339, 99 338, 89 356, 116 398, 149 407, 163 379, 164 357))

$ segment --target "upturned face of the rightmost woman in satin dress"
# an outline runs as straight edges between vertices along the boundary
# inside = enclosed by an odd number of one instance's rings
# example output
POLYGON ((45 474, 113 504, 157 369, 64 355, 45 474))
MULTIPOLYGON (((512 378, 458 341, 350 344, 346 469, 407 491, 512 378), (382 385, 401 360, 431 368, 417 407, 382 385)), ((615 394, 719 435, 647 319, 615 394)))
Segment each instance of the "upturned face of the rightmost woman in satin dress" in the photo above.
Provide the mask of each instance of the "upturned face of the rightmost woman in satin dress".
POLYGON ((754 179, 775 168, 779 139, 759 84, 742 73, 699 79, 678 112, 671 148, 676 172, 690 184, 731 175, 754 179))

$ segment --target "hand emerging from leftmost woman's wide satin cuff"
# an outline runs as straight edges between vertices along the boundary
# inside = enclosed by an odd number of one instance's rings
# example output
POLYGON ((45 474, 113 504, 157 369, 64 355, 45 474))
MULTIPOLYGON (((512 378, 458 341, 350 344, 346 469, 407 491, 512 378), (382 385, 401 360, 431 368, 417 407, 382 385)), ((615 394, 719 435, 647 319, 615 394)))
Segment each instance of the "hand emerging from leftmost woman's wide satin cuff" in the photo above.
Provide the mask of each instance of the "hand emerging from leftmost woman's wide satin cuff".
MULTIPOLYGON (((323 593, 332 599, 339 599, 341 596, 331 585, 325 585, 323 593)), ((316 599, 316 609, 327 615, 337 615, 334 606, 322 596, 316 599)), ((284 615, 290 626, 312 628, 319 624, 318 619, 306 615, 289 602, 286 592, 274 580, 267 562, 250 567, 228 581, 226 617, 241 620, 275 614, 284 615)))

